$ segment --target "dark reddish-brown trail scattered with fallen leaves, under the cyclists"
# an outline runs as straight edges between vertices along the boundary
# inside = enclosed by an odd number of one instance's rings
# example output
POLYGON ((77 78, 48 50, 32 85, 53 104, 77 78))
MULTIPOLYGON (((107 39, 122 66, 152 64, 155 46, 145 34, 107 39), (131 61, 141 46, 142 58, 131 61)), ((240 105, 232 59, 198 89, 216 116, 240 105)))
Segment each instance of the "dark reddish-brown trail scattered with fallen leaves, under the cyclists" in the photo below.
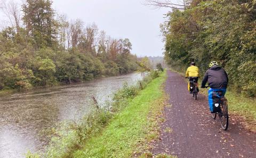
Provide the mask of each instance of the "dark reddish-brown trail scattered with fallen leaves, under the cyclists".
POLYGON ((213 120, 207 98, 199 94, 197 101, 188 93, 187 83, 179 74, 167 71, 166 93, 172 107, 165 108, 166 121, 161 139, 153 153, 183 157, 256 157, 256 134, 243 128, 230 116, 229 128, 223 131, 219 118, 213 120), (171 128, 169 132, 166 128, 171 128))

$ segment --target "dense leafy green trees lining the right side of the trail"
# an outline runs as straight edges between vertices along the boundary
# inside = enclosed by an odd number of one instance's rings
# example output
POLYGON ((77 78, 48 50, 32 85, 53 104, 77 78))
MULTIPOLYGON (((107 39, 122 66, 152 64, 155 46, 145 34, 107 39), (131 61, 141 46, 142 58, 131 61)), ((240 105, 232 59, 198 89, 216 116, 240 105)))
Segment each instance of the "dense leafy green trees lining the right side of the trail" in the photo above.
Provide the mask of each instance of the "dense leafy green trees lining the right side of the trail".
POLYGON ((162 24, 165 59, 185 70, 194 61, 201 74, 218 61, 232 88, 256 95, 256 1, 190 1, 167 13, 162 24))

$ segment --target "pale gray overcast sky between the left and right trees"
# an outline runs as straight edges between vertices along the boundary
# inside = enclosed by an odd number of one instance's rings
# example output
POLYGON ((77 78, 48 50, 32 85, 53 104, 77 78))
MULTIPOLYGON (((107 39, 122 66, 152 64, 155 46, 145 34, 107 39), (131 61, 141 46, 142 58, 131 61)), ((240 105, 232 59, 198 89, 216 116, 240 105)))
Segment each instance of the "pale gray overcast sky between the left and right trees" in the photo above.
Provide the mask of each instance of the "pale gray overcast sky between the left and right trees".
POLYGON ((97 24, 113 38, 129 38, 132 53, 138 56, 162 56, 159 24, 169 9, 151 9, 142 0, 53 0, 57 13, 69 19, 97 24))

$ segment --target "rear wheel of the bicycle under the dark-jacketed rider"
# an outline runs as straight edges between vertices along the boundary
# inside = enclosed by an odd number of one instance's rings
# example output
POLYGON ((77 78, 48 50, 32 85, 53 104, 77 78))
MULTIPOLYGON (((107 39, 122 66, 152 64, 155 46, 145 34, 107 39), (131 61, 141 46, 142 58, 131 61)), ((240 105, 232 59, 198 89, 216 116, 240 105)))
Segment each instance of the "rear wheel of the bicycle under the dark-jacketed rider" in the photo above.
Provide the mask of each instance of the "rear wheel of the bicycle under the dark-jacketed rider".
POLYGON ((228 129, 228 102, 226 98, 221 98, 221 112, 219 113, 220 124, 223 130, 228 129))

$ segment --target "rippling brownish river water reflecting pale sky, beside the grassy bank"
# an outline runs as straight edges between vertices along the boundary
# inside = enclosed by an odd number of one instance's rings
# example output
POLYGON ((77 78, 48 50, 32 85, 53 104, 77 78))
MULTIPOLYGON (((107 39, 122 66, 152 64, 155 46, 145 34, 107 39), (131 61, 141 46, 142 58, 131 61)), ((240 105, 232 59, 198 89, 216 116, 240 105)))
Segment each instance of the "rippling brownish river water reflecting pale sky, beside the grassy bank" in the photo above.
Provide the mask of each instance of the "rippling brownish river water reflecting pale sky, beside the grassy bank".
POLYGON ((29 90, 0 97, 0 157, 25 157, 44 148, 43 129, 59 121, 78 120, 90 111, 92 96, 100 106, 123 86, 141 79, 140 73, 107 77, 81 84, 29 90))

